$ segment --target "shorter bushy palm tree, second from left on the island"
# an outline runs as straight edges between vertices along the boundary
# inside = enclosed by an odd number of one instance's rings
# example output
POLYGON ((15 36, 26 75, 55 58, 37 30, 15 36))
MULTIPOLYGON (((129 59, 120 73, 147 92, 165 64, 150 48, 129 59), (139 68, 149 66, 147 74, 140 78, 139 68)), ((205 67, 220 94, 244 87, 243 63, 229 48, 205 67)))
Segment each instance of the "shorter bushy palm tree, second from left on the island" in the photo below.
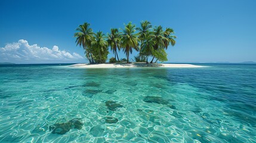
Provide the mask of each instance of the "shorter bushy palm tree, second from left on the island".
POLYGON ((98 31, 94 33, 94 39, 92 39, 91 46, 94 49, 95 53, 98 53, 100 56, 99 63, 103 63, 101 59, 101 54, 107 51, 107 41, 104 39, 105 35, 98 31))

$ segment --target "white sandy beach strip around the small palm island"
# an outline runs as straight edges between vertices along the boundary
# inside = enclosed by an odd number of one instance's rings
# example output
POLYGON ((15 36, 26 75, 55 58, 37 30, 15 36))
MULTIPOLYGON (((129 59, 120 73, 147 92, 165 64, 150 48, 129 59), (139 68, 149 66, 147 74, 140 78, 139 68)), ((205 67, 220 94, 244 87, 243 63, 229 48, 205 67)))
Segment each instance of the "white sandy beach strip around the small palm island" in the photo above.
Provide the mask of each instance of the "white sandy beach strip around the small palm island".
POLYGON ((195 68, 203 67, 193 64, 145 64, 145 63, 105 63, 105 64, 73 64, 68 67, 79 67, 89 69, 106 69, 106 68, 129 68, 129 67, 175 67, 175 68, 195 68))

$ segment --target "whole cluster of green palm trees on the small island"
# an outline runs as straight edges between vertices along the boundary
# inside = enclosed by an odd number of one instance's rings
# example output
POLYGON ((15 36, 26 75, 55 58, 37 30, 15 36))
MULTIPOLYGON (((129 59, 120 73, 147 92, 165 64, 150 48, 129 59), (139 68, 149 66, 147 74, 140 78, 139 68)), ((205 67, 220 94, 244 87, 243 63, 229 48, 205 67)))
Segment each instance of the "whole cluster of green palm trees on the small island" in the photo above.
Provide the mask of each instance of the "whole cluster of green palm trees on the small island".
POLYGON ((127 63, 129 63, 129 54, 132 49, 140 51, 136 59, 146 60, 152 57, 150 63, 157 61, 167 61, 165 49, 169 45, 175 45, 174 30, 162 26, 153 27, 149 21, 141 21, 140 27, 135 27, 129 22, 125 25, 122 32, 118 29, 110 29, 110 33, 104 35, 102 32, 94 33, 90 28, 90 24, 84 23, 79 25, 75 33, 76 43, 85 49, 85 56, 90 63, 105 63, 109 48, 115 55, 115 62, 120 62, 118 51, 124 50, 127 55, 127 63), (118 60, 116 60, 116 58, 118 60))

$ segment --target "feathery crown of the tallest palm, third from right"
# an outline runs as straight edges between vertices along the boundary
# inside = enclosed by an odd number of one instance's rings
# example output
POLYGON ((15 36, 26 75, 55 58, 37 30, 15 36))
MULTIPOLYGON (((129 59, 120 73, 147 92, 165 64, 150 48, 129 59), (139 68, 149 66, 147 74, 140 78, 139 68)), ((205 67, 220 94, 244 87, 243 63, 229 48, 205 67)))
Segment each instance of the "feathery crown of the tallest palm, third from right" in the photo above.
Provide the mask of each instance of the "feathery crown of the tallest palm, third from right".
POLYGON ((150 29, 152 29, 152 25, 149 21, 141 21, 140 27, 137 27, 136 30, 138 30, 140 39, 140 43, 143 43, 143 39, 145 39, 146 34, 150 32, 150 29))

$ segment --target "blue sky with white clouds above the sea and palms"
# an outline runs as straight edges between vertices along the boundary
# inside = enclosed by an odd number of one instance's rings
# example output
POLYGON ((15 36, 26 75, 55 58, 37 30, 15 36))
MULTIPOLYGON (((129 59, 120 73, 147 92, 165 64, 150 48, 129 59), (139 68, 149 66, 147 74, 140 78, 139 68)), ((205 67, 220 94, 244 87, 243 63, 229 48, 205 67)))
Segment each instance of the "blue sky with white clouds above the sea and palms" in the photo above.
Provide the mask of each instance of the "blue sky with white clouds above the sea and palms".
MULTIPOLYGON (((255 7, 254 0, 4 0, 0 1, 0 62, 86 62, 73 38, 79 24, 88 22, 94 32, 107 33, 129 21, 139 26, 141 20, 175 30, 177 44, 168 48, 168 62, 256 61, 255 7), (15 54, 21 51, 26 54, 15 54)), ((122 51, 119 57, 125 57, 122 51)))

